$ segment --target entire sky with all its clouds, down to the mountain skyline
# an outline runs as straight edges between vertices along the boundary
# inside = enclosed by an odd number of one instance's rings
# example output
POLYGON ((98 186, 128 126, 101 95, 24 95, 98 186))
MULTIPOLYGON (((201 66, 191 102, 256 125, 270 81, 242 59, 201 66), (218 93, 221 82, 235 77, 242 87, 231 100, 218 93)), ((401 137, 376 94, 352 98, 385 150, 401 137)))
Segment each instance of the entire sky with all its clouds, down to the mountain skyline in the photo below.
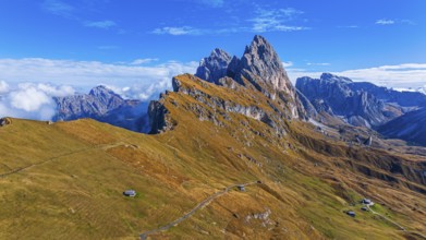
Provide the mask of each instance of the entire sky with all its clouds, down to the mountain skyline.
POLYGON ((426 88, 425 10, 425 0, 2 0, 0 115, 98 84, 155 98, 216 47, 241 57, 255 34, 293 82, 333 72, 426 88))

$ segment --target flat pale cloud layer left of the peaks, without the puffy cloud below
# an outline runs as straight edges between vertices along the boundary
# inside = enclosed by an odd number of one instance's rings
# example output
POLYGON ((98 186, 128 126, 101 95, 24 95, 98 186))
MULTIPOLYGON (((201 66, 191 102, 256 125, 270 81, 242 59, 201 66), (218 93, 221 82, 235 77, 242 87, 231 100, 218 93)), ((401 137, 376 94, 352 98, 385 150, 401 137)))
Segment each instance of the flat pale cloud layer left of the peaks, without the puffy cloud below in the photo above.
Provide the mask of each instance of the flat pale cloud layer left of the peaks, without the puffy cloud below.
MULTIPOLYGON (((178 61, 144 67, 41 58, 0 59, 0 79, 10 84, 21 82, 53 83, 54 85, 82 87, 84 91, 99 84, 117 88, 130 87, 132 91, 126 92, 127 97, 148 99, 157 97, 157 94, 165 89, 170 89, 172 76, 194 73, 197 65, 197 62, 182 63, 178 61)), ((42 84, 38 84, 37 87, 56 96, 66 95, 73 91, 65 87, 52 91, 42 84)))

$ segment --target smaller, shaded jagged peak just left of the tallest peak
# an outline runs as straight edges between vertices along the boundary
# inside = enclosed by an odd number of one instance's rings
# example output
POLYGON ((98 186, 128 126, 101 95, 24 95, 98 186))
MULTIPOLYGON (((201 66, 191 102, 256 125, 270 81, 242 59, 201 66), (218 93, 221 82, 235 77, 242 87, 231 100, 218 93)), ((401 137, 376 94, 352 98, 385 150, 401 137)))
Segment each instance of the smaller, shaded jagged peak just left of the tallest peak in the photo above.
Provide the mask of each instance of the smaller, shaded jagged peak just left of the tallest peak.
POLYGON ((231 62, 231 56, 222 49, 215 48, 210 56, 199 61, 196 76, 211 83, 218 83, 218 80, 227 75, 227 69, 231 62))

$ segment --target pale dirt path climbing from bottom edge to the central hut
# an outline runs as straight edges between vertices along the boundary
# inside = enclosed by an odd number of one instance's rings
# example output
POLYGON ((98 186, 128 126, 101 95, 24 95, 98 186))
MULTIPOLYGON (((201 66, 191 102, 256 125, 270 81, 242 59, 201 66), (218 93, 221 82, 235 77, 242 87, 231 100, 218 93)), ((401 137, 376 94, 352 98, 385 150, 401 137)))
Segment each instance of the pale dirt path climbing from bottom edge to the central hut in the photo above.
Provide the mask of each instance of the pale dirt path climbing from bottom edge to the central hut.
POLYGON ((253 185, 253 184, 257 184, 258 182, 257 181, 254 181, 254 182, 247 182, 247 183, 243 183, 243 184, 233 184, 233 185, 230 185, 230 187, 227 187, 226 189, 223 189, 222 191, 219 191, 210 196, 208 196, 207 199, 205 199, 203 202, 198 203, 194 208, 192 208, 190 212, 187 212, 186 214, 184 214, 182 217, 160 227, 160 228, 157 228, 157 229, 154 229, 154 230, 149 230, 149 231, 145 231, 143 233, 139 235, 139 238, 142 240, 145 240, 149 235, 153 235, 155 232, 158 232, 158 231, 166 231, 168 230, 169 228, 171 227, 174 227, 177 226, 179 223, 185 220, 186 218, 191 217, 193 214, 195 214, 198 209, 203 208, 204 206, 208 205, 211 201, 214 201, 215 199, 228 193, 231 189, 233 188, 236 188, 239 185, 244 185, 244 187, 247 187, 247 185, 253 185))

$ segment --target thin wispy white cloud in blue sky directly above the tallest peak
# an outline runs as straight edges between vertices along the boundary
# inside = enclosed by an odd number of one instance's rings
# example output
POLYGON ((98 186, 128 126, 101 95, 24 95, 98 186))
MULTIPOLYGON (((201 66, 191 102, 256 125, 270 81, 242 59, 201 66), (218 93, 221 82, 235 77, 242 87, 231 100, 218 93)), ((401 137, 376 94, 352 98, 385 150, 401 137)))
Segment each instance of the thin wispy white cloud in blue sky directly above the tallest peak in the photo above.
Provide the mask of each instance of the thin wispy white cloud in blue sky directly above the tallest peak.
POLYGON ((292 26, 287 24, 300 14, 303 14, 303 12, 291 8, 273 10, 258 9, 256 16, 249 19, 248 22, 253 23, 252 31, 255 33, 308 29, 308 27, 292 26))

